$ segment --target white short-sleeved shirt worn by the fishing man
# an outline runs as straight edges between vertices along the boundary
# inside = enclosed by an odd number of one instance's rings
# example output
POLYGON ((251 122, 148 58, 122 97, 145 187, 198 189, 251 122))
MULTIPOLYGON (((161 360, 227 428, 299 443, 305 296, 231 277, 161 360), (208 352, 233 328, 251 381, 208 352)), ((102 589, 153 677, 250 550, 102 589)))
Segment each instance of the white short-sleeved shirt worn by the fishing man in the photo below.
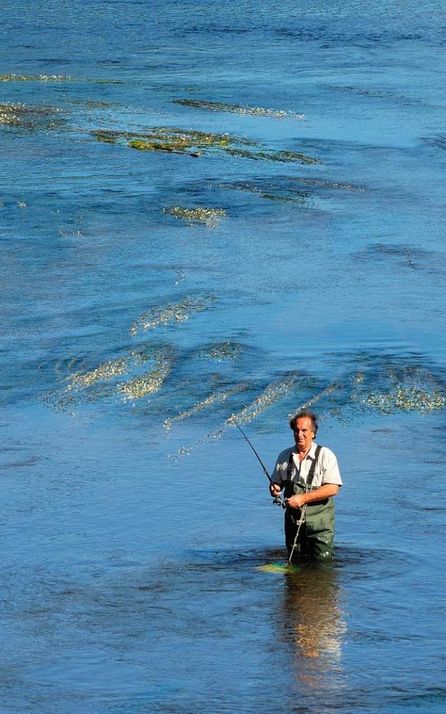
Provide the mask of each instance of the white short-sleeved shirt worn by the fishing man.
MULTIPOLYGON (((271 477, 274 483, 283 486, 283 481, 287 480, 288 461, 290 453, 293 453, 293 473, 291 479, 305 487, 311 464, 315 458, 316 446, 318 445, 313 441, 310 451, 308 451, 307 456, 305 456, 300 463, 295 446, 290 446, 290 448, 285 448, 283 451, 280 451, 271 477)), ((336 483, 338 486, 343 485, 342 478, 340 478, 338 460, 333 451, 330 451, 326 446, 320 449, 318 463, 316 464, 313 476, 312 488, 319 488, 319 486, 323 486, 324 483, 336 483)))

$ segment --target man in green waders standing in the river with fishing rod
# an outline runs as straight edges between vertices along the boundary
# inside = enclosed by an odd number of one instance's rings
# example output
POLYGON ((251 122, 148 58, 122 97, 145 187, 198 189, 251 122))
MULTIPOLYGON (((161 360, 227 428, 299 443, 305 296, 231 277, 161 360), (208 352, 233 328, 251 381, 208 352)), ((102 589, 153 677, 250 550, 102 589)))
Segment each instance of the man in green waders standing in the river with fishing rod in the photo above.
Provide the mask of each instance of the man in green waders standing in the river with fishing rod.
POLYGON ((290 420, 295 446, 281 451, 270 484, 271 496, 285 489, 285 543, 288 554, 323 560, 333 555, 335 518, 333 496, 343 485, 333 451, 313 438, 318 417, 309 410, 290 420), (303 509, 303 506, 306 506, 303 509))

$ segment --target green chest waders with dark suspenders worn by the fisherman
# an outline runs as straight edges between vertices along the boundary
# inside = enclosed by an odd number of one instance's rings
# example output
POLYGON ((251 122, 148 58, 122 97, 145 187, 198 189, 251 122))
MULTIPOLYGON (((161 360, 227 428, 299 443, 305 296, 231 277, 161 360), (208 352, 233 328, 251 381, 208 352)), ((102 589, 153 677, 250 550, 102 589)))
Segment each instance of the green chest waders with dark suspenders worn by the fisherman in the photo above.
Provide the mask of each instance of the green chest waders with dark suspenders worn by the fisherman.
MULTIPOLYGON (((285 498, 291 498, 295 493, 308 493, 315 475, 321 446, 316 446, 315 458, 308 472, 307 483, 293 481, 293 451, 290 452, 285 481, 285 498)), ((285 511, 285 543, 288 553, 293 548, 298 521, 301 516, 300 508, 287 508, 285 511)), ((333 555, 333 541, 335 536, 335 507, 333 498, 324 498, 323 501, 307 503, 305 521, 300 527, 295 555, 300 558, 315 558, 323 560, 333 555)))

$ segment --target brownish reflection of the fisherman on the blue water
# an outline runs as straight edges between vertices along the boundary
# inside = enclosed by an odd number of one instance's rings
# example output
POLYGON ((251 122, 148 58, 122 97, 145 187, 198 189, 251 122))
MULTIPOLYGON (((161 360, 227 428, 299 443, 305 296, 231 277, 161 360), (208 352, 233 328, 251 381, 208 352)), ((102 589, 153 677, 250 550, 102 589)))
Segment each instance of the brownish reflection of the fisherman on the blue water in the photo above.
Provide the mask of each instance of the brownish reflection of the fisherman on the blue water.
POLYGON ((333 565, 302 565, 286 573, 283 625, 294 645, 296 674, 308 684, 311 675, 340 673, 345 622, 333 565), (307 661, 305 666, 305 660, 307 661), (310 665, 310 666, 309 666, 310 665))

